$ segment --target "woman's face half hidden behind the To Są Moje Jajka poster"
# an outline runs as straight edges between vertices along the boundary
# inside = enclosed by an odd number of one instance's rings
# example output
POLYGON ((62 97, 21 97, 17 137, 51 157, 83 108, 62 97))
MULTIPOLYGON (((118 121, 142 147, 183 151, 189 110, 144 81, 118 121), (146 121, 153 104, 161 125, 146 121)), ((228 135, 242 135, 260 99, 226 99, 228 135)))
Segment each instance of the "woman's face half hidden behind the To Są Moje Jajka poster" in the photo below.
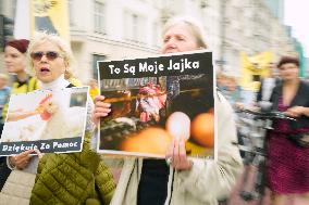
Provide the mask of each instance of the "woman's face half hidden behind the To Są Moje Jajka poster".
POLYGON ((176 24, 163 36, 162 53, 175 53, 198 50, 197 39, 186 24, 176 24))

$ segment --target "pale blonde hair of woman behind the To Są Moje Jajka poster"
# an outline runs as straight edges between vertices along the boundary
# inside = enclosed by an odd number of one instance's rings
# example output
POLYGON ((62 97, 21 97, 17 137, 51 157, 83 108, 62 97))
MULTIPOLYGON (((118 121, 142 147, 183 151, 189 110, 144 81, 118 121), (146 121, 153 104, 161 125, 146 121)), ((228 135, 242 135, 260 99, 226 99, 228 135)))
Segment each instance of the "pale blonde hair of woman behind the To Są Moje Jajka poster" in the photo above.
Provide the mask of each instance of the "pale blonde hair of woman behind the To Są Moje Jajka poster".
POLYGON ((196 42, 198 47, 201 47, 203 49, 207 49, 207 43, 203 38, 202 34, 202 26, 200 23, 198 23, 196 20, 188 17, 188 16, 177 16, 169 20, 165 25, 163 26, 163 33, 162 36, 173 26, 176 26, 178 24, 185 24, 190 29, 191 34, 196 38, 196 42))

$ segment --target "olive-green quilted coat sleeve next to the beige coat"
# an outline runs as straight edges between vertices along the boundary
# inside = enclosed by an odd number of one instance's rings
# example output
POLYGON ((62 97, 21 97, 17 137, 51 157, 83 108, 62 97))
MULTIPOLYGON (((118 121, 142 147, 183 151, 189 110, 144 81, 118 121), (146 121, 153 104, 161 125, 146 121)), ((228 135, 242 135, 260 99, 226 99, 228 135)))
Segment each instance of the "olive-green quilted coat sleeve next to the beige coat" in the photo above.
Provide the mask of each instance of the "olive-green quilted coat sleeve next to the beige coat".
POLYGON ((103 162, 99 164, 96 171, 96 185, 104 204, 110 204, 115 190, 115 182, 111 171, 103 162))

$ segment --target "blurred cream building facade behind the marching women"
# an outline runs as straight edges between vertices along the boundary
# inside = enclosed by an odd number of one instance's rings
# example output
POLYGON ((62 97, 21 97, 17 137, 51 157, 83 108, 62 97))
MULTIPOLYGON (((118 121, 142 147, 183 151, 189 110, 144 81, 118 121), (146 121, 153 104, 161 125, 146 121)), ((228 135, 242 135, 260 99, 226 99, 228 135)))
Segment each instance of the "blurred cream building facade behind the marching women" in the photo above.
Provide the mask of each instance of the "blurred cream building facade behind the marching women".
MULTIPOLYGON (((0 3, 2 13, 14 16, 15 1, 0 3)), ((217 69, 228 75, 239 75, 242 51, 272 51, 275 61, 295 53, 265 0, 69 0, 69 13, 75 75, 83 82, 96 78, 97 61, 160 53, 162 26, 176 15, 200 21, 217 69)))

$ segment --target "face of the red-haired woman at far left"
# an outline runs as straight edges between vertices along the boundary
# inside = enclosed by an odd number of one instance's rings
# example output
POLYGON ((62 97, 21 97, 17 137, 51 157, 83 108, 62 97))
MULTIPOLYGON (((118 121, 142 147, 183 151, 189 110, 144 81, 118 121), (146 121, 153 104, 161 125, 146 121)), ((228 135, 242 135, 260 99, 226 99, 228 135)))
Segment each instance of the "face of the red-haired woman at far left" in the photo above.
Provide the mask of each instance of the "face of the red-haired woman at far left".
POLYGON ((9 73, 23 73, 26 67, 26 56, 14 47, 7 46, 4 49, 4 63, 9 73))

